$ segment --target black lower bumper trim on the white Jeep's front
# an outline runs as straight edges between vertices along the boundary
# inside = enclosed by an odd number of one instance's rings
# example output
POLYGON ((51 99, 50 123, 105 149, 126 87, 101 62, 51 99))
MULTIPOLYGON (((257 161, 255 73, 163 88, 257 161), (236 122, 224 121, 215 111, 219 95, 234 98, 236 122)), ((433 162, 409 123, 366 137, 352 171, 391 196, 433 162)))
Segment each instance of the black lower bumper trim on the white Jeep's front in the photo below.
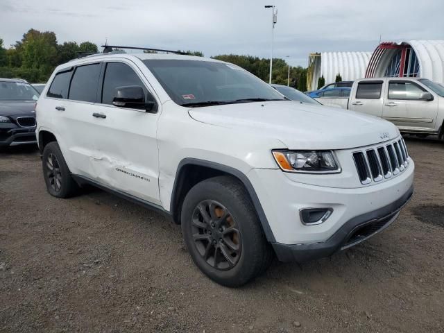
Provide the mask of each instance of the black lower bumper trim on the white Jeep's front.
POLYGON ((281 262, 307 262, 328 257, 336 251, 355 246, 388 227, 413 196, 413 185, 398 200, 390 205, 368 212, 345 222, 332 237, 322 243, 287 245, 272 243, 281 262))

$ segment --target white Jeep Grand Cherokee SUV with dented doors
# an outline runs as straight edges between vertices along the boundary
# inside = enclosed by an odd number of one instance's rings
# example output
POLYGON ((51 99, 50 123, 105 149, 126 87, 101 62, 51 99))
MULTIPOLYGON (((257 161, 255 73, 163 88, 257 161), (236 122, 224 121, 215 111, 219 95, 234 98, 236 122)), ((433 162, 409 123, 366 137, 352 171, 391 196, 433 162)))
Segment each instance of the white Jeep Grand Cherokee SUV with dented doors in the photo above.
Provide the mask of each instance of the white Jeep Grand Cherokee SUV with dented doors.
POLYGON ((37 102, 49 194, 85 184, 182 225, 203 273, 239 286, 390 225, 413 160, 388 121, 289 101, 244 69, 108 53, 56 68, 37 102))

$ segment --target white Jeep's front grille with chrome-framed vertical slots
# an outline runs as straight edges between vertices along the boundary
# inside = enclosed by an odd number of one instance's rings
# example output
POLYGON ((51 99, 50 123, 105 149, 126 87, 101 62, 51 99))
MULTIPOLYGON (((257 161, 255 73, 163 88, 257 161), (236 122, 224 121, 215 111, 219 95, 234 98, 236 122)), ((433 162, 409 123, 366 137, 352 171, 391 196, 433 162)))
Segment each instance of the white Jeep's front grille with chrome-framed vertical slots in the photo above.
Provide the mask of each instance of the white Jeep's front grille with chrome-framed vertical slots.
POLYGON ((380 182, 404 171, 409 165, 409 153, 404 139, 383 146, 353 153, 361 184, 380 182))

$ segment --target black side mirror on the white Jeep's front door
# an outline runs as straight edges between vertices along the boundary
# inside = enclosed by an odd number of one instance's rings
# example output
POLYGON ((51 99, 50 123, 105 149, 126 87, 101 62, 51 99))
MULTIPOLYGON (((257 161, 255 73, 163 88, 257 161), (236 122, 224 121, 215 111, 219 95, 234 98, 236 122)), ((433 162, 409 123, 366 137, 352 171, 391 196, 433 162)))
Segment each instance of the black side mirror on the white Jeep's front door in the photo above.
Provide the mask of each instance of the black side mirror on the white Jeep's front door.
POLYGON ((112 105, 120 108, 145 110, 146 112, 157 111, 155 101, 146 101, 144 89, 139 85, 117 87, 114 99, 112 99, 112 105))

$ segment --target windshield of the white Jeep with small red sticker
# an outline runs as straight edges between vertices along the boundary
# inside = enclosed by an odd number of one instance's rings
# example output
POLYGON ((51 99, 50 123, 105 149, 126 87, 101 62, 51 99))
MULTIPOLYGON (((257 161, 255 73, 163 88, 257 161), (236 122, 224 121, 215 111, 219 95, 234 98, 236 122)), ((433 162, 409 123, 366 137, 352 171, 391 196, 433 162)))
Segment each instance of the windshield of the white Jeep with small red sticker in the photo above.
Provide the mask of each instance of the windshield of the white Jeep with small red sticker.
POLYGON ((284 101, 284 97, 236 65, 200 60, 144 60, 171 99, 198 107, 251 101, 284 101))

